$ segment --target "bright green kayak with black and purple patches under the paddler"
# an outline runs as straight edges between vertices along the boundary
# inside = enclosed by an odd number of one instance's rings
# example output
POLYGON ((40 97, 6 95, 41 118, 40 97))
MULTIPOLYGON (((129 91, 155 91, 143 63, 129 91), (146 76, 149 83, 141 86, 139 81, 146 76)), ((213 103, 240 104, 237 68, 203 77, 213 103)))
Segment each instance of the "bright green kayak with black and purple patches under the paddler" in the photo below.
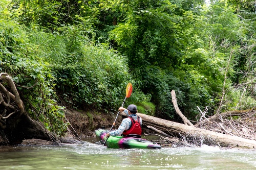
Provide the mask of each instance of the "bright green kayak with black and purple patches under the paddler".
MULTIPOLYGON (((102 144, 106 140, 106 133, 109 130, 97 129, 95 130, 96 138, 102 144)), ((106 140, 105 145, 108 148, 139 148, 139 149, 161 149, 159 144, 136 137, 110 136, 106 140)))

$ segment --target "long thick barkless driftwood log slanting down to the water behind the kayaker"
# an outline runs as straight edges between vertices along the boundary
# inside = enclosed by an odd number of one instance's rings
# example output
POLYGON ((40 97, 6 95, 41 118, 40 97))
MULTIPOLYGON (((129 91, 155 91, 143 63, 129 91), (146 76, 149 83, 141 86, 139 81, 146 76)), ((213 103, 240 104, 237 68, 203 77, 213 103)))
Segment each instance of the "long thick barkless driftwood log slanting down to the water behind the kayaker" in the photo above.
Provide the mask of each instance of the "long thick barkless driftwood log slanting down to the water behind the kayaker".
MULTIPOLYGON (((153 126, 171 136, 193 141, 193 143, 197 145, 207 144, 220 145, 221 147, 240 147, 249 149, 256 147, 255 140, 208 131, 141 113, 137 114, 142 118, 143 126, 153 126)), ((125 116, 124 113, 121 113, 121 115, 125 116)))

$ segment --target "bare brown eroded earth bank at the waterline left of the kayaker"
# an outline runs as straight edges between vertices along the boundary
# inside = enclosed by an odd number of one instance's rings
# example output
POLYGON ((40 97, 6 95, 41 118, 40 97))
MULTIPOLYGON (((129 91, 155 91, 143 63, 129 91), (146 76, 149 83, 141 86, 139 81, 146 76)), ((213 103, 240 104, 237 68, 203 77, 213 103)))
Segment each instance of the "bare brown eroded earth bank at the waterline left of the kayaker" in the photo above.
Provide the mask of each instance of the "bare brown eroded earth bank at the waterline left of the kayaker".
MULTIPOLYGON (((47 141, 41 139, 24 139, 24 145, 62 145, 64 143, 74 144, 96 138, 94 131, 99 128, 110 128, 116 115, 105 114, 93 110, 65 110, 66 122, 69 122, 68 131, 59 138, 59 141, 47 141)), ((117 118, 117 126, 122 121, 121 116, 117 118)), ((92 141, 93 142, 93 141, 92 141)))

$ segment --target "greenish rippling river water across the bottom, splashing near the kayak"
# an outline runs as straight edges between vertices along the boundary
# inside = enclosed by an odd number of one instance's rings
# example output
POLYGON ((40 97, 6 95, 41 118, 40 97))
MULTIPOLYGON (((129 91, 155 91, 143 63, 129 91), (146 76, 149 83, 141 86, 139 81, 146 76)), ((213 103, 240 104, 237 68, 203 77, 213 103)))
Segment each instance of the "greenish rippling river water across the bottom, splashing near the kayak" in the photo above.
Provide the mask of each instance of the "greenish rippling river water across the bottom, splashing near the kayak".
POLYGON ((0 169, 256 169, 256 151, 218 147, 108 149, 86 142, 0 147, 0 169))

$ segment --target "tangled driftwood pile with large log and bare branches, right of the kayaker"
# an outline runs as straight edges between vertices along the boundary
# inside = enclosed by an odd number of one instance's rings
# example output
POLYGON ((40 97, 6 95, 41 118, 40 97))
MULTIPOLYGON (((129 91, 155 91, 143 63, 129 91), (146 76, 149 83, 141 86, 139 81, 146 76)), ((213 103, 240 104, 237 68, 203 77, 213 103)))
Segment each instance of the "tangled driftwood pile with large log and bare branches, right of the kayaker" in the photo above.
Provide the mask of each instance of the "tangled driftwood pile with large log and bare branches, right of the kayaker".
POLYGON ((199 122, 193 125, 179 110, 175 91, 171 93, 175 110, 184 124, 137 113, 142 118, 143 125, 162 136, 162 141, 159 141, 162 144, 256 148, 256 128, 254 129, 256 109, 228 111, 211 117, 206 117, 206 112, 199 109, 202 116, 199 122))

